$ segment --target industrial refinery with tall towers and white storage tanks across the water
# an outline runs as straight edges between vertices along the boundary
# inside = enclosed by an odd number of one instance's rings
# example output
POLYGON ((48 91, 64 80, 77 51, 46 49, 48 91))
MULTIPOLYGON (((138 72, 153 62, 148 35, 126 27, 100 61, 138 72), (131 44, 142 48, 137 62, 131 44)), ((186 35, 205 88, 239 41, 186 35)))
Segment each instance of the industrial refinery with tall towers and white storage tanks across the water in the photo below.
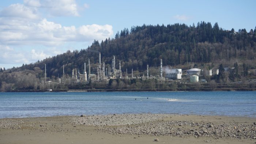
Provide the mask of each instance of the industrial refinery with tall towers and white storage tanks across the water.
MULTIPOLYGON (((110 64, 111 67, 105 68, 105 62, 101 62, 101 53, 99 53, 99 61, 96 67, 91 67, 90 65, 90 58, 88 59, 88 65, 86 67, 86 62, 84 62, 84 70, 80 72, 78 68, 73 68, 71 73, 71 78, 73 83, 89 83, 89 82, 102 82, 102 81, 109 81, 110 79, 157 79, 157 80, 178 80, 183 82, 191 82, 196 83, 199 82, 199 76, 212 76, 218 75, 219 70, 216 69, 215 71, 210 69, 207 71, 203 71, 199 68, 192 68, 182 74, 182 69, 169 69, 165 67, 163 69, 162 63, 163 60, 159 60, 159 74, 158 75, 150 75, 149 68, 150 66, 147 65, 147 75, 144 76, 144 73, 139 75, 133 75, 133 69, 131 69, 131 73, 129 73, 130 77, 128 76, 127 69, 126 72, 122 71, 121 69, 121 61, 118 62, 119 67, 116 69, 116 57, 113 56, 112 62, 110 64), (88 72, 86 71, 88 69, 88 72), (91 73, 91 70, 93 73, 91 73), (164 75, 163 75, 164 74, 164 75), (182 79, 182 77, 185 77, 182 79)), ((94 65, 95 66, 95 65, 94 65)), ((63 75, 65 74, 64 65, 63 65, 63 75)), ((46 82, 46 65, 45 65, 45 82, 46 82)), ((59 79, 59 82, 61 80, 59 79)))

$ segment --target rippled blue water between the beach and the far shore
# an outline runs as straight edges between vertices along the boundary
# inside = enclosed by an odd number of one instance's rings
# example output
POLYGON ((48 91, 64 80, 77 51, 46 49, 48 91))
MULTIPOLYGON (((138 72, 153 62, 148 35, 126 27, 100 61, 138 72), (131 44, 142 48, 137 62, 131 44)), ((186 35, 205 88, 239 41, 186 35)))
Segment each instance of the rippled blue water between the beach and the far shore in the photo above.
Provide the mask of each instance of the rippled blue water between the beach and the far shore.
POLYGON ((0 118, 114 113, 256 117, 256 91, 0 93, 0 118))

